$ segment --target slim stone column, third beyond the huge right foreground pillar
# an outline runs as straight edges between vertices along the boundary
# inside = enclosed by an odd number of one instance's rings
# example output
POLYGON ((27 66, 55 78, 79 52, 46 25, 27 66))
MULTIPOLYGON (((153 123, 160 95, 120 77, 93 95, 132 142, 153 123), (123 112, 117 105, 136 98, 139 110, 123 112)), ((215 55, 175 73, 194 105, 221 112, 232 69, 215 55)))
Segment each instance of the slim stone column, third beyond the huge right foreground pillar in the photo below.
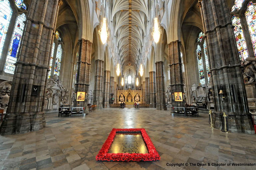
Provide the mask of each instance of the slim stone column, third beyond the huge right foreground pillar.
POLYGON ((156 72, 149 72, 149 95, 150 95, 150 107, 155 108, 156 105, 156 72))

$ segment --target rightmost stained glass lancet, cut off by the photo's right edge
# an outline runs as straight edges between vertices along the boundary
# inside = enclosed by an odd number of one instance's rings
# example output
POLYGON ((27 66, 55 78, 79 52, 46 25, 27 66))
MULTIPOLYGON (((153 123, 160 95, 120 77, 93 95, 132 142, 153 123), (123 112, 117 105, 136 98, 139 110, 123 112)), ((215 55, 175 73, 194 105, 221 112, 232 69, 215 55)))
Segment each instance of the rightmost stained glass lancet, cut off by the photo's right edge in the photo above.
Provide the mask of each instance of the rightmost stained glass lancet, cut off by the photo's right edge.
POLYGON ((249 27, 254 55, 256 56, 256 3, 253 4, 252 2, 249 2, 247 7, 248 8, 245 11, 245 17, 249 27))

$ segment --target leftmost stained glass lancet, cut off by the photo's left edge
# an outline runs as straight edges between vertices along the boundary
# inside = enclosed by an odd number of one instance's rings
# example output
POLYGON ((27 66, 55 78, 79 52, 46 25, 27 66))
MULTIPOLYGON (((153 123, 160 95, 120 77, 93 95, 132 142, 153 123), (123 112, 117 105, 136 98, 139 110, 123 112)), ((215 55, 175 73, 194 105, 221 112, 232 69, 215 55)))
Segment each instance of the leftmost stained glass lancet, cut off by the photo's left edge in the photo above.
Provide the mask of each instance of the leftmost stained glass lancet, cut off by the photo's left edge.
POLYGON ((8 0, 0 1, 0 57, 3 51, 6 33, 12 16, 12 9, 8 0))

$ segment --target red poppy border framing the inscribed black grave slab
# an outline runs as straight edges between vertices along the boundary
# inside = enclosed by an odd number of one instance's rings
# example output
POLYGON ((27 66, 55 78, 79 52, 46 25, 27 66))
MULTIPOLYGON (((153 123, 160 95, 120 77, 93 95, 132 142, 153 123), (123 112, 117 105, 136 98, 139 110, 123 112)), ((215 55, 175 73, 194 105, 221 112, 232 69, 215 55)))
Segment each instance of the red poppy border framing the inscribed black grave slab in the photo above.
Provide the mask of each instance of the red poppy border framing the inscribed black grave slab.
POLYGON ((150 140, 144 128, 132 129, 115 129, 110 132, 107 140, 103 144, 101 150, 96 156, 97 161, 156 161, 160 160, 160 156, 156 151, 155 146, 150 140), (108 153, 108 150, 115 138, 116 132, 141 132, 142 137, 147 146, 148 153, 108 153))

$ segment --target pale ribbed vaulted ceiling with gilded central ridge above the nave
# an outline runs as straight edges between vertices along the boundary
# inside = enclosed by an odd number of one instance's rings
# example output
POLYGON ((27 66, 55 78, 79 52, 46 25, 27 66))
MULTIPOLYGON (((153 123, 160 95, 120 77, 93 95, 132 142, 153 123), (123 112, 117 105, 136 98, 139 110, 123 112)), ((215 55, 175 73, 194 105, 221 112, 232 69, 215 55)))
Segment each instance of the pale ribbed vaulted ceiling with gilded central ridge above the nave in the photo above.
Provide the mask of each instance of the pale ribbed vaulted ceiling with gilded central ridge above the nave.
MULTIPOLYGON (((148 0, 113 0, 112 22, 115 23, 115 36, 121 66, 137 70, 141 60, 141 47, 145 35, 145 23, 149 16, 148 0)), ((128 71, 125 69, 124 71, 128 71)), ((127 73, 124 72, 124 75, 127 73)), ((128 73, 130 75, 130 73, 128 73)), ((133 75, 136 75, 134 72, 133 75)))

